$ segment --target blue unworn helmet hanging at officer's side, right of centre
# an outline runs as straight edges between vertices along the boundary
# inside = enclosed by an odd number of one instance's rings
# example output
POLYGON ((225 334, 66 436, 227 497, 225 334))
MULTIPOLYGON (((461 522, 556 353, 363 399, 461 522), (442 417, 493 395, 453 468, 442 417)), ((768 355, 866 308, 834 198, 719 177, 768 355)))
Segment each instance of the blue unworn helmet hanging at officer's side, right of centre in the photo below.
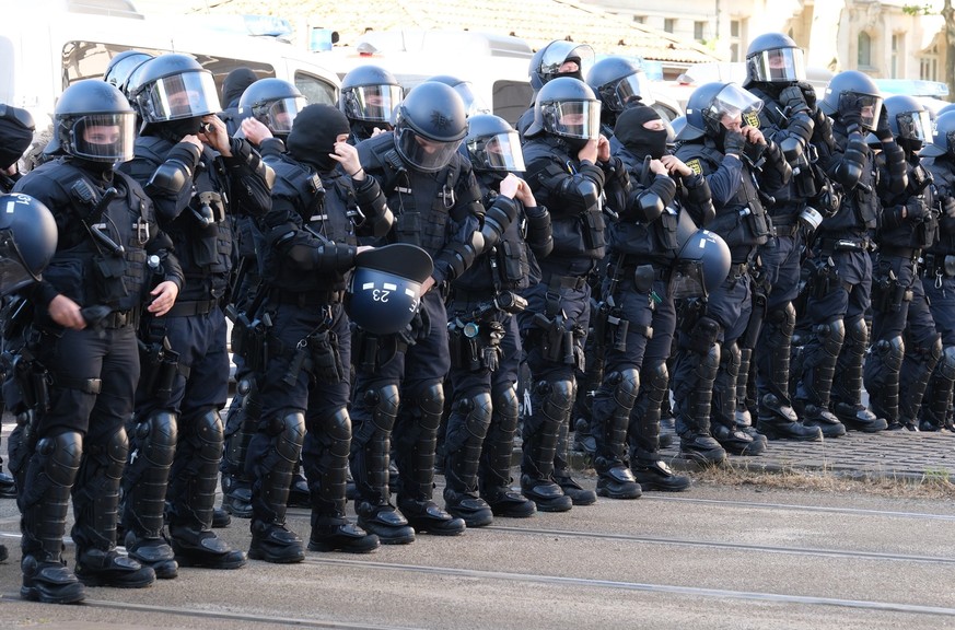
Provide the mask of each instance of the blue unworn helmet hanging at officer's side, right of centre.
POLYGON ((680 210, 677 220, 676 242, 674 299, 704 298, 715 291, 730 272, 726 242, 715 232, 697 228, 686 210, 680 210))

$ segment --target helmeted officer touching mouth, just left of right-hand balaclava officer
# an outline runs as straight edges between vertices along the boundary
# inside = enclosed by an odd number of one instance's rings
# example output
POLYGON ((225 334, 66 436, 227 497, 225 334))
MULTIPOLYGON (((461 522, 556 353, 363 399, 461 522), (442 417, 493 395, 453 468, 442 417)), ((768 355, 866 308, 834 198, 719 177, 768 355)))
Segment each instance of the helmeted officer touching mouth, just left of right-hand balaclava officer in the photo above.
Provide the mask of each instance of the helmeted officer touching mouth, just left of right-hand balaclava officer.
POLYGON ((602 198, 628 186, 619 158, 599 132, 599 102, 586 83, 559 77, 540 89, 525 132, 526 180, 550 210, 554 250, 540 260, 540 282, 525 291, 519 315, 533 376, 533 412, 524 419, 521 489, 545 512, 596 501, 570 476, 566 441, 575 370, 583 370, 590 325, 587 276, 604 257, 602 198), (558 443, 564 445, 560 448, 558 443))

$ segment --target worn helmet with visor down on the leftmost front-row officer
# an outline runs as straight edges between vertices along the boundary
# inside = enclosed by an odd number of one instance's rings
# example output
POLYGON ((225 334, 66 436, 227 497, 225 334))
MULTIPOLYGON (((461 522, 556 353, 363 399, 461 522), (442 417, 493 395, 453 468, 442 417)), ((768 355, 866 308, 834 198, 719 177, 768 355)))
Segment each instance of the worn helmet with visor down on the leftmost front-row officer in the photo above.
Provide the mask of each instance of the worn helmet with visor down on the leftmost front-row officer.
POLYGON ((54 133, 45 153, 91 162, 132 160, 136 113, 123 93, 95 79, 67 88, 54 110, 54 133))

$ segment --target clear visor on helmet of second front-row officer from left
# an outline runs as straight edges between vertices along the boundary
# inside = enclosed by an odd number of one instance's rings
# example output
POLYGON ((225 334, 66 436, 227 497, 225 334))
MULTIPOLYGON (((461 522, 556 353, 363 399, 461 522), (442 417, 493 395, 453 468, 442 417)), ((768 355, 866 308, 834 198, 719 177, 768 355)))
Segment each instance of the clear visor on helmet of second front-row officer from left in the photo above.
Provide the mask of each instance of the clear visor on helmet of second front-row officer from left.
POLYGON ((211 72, 184 72, 163 77, 140 95, 143 117, 164 122, 216 114, 222 107, 211 72))

